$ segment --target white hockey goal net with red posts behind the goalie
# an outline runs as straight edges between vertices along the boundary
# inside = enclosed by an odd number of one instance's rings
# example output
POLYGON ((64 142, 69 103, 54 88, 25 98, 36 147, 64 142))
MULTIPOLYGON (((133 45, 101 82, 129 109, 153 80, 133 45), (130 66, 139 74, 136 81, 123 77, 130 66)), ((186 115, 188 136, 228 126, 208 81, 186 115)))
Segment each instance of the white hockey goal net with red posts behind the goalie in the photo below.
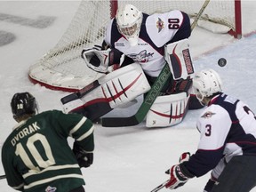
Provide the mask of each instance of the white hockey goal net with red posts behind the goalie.
MULTIPOLYGON (((103 76, 87 68, 81 52, 85 47, 102 43, 109 20, 115 17, 117 7, 122 4, 133 4, 148 14, 178 9, 193 19, 204 0, 82 0, 58 44, 29 68, 29 79, 53 90, 76 92, 103 76)), ((211 0, 201 19, 200 27, 204 28, 205 22, 208 26, 214 23, 214 30, 221 27, 221 32, 225 30, 240 38, 241 0, 211 0)))

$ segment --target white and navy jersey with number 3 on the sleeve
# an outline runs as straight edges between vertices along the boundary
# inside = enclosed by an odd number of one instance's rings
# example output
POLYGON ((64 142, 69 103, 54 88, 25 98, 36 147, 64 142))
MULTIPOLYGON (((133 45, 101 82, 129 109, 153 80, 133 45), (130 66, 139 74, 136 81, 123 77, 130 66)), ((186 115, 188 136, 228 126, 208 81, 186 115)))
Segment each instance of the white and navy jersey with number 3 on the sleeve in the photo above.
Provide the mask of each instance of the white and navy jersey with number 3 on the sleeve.
POLYGON ((256 156, 256 116, 243 101, 224 93, 215 96, 196 126, 198 149, 184 163, 196 177, 215 167, 212 175, 218 178, 232 156, 256 156))

